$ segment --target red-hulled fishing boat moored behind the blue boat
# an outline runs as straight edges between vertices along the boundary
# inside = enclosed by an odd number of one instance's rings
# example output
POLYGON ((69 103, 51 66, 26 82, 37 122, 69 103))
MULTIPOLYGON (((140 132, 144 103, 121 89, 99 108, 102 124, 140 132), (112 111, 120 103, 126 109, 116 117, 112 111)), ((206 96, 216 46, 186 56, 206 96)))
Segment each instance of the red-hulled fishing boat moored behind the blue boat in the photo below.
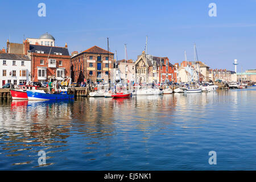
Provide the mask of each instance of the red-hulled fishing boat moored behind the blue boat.
POLYGON ((39 86, 31 85, 19 85, 19 89, 11 89, 11 98, 13 100, 27 100, 27 91, 26 90, 35 90, 39 86))

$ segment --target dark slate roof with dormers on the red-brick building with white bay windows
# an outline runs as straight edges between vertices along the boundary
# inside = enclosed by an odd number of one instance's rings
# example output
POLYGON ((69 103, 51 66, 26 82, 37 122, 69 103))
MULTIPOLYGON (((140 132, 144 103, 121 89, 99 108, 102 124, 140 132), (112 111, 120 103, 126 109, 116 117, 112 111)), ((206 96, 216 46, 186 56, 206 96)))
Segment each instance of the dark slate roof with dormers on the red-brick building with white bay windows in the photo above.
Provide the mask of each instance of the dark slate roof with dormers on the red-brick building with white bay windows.
POLYGON ((44 53, 48 54, 51 51, 51 55, 55 52, 62 53, 64 56, 69 56, 68 48, 65 47, 51 47, 51 46, 40 46, 40 45, 33 45, 30 44, 30 52, 36 51, 44 51, 44 53))

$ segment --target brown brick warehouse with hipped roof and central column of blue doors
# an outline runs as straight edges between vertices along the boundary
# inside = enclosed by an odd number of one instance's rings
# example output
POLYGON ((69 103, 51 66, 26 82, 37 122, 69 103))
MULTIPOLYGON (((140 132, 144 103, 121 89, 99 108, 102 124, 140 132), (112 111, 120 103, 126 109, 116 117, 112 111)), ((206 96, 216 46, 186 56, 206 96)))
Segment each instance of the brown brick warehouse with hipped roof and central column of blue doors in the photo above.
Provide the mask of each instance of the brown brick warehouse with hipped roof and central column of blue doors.
POLYGON ((108 83, 113 68, 114 53, 93 46, 71 57, 71 77, 76 82, 90 80, 108 83))

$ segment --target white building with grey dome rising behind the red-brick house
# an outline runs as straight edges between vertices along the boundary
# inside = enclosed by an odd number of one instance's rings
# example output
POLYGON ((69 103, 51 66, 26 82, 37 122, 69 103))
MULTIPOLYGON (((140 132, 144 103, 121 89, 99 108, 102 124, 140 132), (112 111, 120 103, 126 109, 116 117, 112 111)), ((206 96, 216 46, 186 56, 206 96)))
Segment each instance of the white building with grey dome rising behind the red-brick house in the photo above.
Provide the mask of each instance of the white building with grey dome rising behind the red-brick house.
POLYGON ((27 38, 27 40, 28 42, 30 42, 30 44, 34 44, 34 45, 51 46, 51 47, 55 46, 55 38, 53 38, 53 36, 48 34, 47 32, 46 34, 41 35, 39 39, 27 38))

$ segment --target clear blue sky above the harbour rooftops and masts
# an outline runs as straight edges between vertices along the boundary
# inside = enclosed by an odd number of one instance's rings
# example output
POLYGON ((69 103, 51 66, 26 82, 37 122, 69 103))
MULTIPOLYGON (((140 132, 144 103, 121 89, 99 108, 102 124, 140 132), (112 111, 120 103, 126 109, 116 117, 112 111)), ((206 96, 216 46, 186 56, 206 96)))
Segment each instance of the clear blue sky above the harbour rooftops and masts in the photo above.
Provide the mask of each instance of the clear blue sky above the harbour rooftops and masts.
POLYGON ((196 43, 199 60, 211 68, 238 72, 256 68, 256 1, 0 1, 0 47, 6 40, 22 43, 49 32, 56 46, 68 44, 69 53, 92 46, 117 51, 118 59, 137 59, 148 36, 148 53, 168 56, 171 63, 193 60, 196 43), (46 4, 46 17, 38 4, 46 4), (217 17, 208 15, 216 3, 217 17))

